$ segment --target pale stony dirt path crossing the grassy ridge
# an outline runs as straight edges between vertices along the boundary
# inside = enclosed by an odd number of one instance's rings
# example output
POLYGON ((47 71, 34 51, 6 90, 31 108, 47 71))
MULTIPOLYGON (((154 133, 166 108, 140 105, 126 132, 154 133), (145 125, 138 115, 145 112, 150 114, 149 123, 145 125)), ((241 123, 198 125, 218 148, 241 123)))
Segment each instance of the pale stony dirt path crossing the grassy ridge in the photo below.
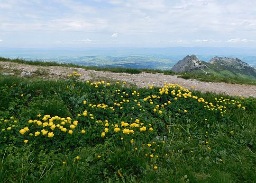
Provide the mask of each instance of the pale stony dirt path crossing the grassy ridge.
POLYGON ((4 73, 4 75, 24 75, 26 77, 37 76, 45 79, 66 78, 67 75, 72 74, 73 71, 81 73, 82 80, 109 78, 126 81, 128 83, 135 84, 138 87, 143 87, 147 85, 163 86, 163 83, 172 83, 179 84, 186 88, 195 87, 195 89, 202 92, 212 91, 215 93, 224 93, 230 96, 238 95, 244 97, 256 97, 256 86, 254 85, 202 82, 195 79, 177 78, 177 75, 163 75, 162 73, 113 73, 109 71, 85 70, 81 68, 32 66, 0 61, 0 74, 4 73))

